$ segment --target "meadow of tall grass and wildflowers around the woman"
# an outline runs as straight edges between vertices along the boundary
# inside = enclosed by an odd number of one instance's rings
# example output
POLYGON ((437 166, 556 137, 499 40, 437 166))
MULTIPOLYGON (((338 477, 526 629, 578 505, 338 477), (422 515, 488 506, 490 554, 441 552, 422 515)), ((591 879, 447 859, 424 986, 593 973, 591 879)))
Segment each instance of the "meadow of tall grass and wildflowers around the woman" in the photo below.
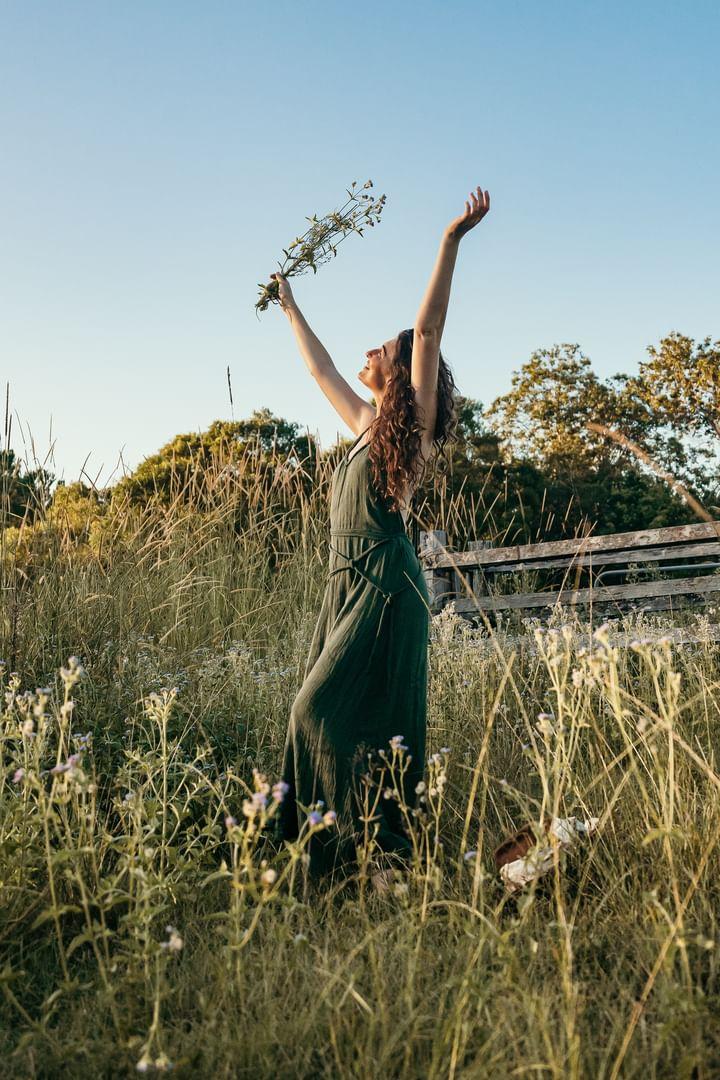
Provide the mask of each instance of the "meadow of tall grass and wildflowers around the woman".
POLYGON ((221 467, 0 540, 0 1071, 720 1076, 717 610, 437 616, 413 872, 367 876, 389 746, 361 873, 317 888, 332 808, 272 826, 326 481, 221 467), (570 815, 598 827, 511 894, 495 846, 570 815))

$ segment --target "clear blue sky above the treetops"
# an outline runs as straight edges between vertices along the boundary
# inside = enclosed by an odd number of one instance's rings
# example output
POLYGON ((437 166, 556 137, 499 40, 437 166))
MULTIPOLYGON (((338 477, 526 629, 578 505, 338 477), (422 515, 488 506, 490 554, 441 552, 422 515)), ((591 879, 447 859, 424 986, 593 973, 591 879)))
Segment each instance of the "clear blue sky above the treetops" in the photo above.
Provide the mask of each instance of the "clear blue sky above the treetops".
POLYGON ((257 282, 371 178, 380 226, 293 281, 355 389, 472 187, 443 351, 488 404, 533 349, 634 372, 720 336, 715 2, 0 2, 12 445, 113 483, 260 406, 351 432, 257 282))

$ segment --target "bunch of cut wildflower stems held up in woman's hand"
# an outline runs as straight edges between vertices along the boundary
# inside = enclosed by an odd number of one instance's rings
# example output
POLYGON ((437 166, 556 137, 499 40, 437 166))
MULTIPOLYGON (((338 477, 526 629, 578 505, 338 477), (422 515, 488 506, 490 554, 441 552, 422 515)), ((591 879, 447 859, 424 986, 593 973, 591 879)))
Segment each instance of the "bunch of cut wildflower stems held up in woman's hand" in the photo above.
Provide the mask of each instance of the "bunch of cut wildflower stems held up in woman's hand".
MULTIPOLYGON (((345 188, 350 199, 340 210, 321 218, 316 214, 305 218, 310 221, 310 228, 301 237, 296 237, 288 248, 283 248, 285 260, 277 266, 284 278, 297 276, 308 269, 317 273, 317 267, 337 255, 339 245, 351 232, 357 232, 362 237, 365 226, 375 228, 380 220, 386 195, 376 198, 365 193, 367 188, 372 187, 372 180, 366 180, 359 192, 354 190, 356 184, 357 180, 353 180, 351 187, 345 188)), ((276 280, 267 285, 258 282, 258 285, 262 292, 255 305, 257 311, 266 311, 269 303, 280 303, 276 280)))

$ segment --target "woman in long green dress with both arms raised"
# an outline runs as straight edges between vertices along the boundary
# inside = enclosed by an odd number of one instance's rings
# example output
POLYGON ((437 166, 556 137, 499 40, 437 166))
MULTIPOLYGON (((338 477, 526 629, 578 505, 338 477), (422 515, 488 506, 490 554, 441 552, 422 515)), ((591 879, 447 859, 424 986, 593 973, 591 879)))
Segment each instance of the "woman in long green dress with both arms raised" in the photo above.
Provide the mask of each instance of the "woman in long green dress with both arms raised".
MULTIPOLYGON (((392 864, 409 865, 412 846, 397 800, 378 799, 377 787, 369 792, 362 778, 370 775, 369 765, 382 765, 380 750, 396 766, 405 754, 408 807, 423 778, 430 596, 407 517, 434 446, 444 445, 454 423, 454 382, 440 338, 460 240, 489 208, 487 191, 471 192, 465 212, 443 234, 413 329, 367 351, 357 377, 375 407, 337 370, 287 280, 271 275, 311 375, 357 435, 330 485, 329 573, 290 708, 279 831, 297 838, 307 818, 302 807, 335 811, 335 824, 309 842, 311 870, 324 875, 353 866, 356 841, 377 828, 379 891, 390 886, 392 864), (368 809, 373 821, 364 823, 368 809)), ((389 773, 384 785, 391 785, 389 773)))

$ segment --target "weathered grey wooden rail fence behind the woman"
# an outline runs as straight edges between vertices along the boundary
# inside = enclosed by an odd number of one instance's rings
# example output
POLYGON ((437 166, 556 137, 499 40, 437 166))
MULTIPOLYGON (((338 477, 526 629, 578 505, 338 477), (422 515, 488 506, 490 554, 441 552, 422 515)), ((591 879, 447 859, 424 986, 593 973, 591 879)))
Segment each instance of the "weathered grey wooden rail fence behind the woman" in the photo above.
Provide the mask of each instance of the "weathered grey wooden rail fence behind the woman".
POLYGON ((448 549, 447 534, 436 529, 420 534, 419 556, 432 610, 452 599, 456 611, 465 617, 556 604, 660 611, 720 592, 720 522, 507 548, 475 540, 467 551, 458 552, 448 549), (562 583, 532 592, 506 591, 510 575, 541 577, 545 571, 554 577, 562 572, 562 583), (652 580, 608 583, 611 578, 643 575, 652 575, 652 580))

